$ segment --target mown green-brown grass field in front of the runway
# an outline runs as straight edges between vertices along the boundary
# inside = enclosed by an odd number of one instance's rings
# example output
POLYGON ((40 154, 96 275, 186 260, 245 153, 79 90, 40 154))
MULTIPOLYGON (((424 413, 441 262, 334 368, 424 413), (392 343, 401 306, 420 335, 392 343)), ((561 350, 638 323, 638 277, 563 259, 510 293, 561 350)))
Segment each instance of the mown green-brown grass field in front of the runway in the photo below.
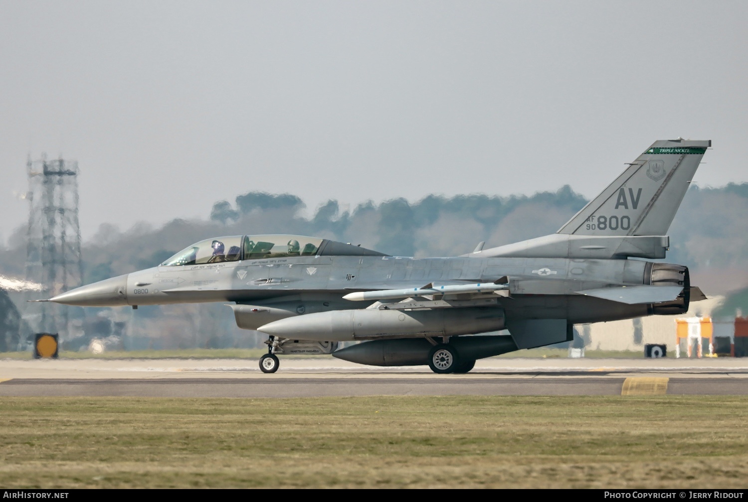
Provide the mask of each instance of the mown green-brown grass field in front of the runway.
POLYGON ((746 488, 748 397, 1 397, 4 488, 746 488))

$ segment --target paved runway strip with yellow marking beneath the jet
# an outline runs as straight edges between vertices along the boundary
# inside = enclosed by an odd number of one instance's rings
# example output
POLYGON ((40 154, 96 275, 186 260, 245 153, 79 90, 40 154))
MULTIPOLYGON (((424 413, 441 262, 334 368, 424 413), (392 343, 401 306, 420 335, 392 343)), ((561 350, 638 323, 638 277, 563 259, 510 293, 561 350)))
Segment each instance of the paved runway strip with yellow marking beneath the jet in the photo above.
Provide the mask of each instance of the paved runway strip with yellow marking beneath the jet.
POLYGON ((334 358, 0 360, 0 396, 323 397, 365 395, 748 394, 748 358, 482 359, 469 374, 334 358))

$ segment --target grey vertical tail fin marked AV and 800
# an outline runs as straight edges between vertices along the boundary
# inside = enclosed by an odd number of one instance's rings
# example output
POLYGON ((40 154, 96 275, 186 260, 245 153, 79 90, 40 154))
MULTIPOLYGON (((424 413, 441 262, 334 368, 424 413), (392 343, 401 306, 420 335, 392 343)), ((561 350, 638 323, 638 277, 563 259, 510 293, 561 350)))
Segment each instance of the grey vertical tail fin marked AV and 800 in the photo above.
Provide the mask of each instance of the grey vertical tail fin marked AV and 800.
POLYGON ((660 140, 557 233, 666 235, 711 140, 660 140))

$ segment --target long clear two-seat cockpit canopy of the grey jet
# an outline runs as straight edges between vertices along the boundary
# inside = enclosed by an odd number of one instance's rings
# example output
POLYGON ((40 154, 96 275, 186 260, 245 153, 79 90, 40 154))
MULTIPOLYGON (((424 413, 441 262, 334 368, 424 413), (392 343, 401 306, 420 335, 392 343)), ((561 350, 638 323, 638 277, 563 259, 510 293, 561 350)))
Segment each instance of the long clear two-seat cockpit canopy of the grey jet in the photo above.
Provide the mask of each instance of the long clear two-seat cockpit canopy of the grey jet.
POLYGON ((363 247, 304 235, 230 235, 192 244, 164 261, 162 266, 313 255, 386 256, 363 247))

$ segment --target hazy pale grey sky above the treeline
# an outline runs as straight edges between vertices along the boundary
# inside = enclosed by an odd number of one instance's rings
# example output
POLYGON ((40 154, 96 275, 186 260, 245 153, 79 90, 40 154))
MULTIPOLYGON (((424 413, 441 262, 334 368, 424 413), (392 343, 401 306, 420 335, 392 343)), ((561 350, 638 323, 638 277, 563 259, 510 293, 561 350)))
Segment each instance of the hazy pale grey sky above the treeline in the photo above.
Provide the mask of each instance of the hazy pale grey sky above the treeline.
POLYGON ((593 196, 678 136, 714 140, 700 185, 745 182, 747 22, 745 1, 0 0, 0 234, 41 152, 79 161, 84 238, 250 190, 593 196))

